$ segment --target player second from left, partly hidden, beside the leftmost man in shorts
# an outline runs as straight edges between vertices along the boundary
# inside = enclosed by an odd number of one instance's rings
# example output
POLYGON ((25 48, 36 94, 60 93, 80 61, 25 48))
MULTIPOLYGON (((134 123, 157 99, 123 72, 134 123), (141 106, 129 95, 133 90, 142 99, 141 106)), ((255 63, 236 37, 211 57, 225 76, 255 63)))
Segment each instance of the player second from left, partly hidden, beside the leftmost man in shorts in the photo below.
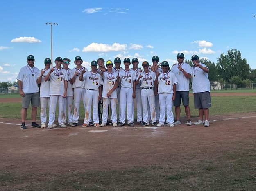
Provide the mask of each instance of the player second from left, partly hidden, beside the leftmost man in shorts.
POLYGON ((41 119, 41 128, 46 128, 46 120, 47 120, 47 115, 46 115, 46 106, 48 103, 48 108, 50 108, 50 79, 45 82, 44 80, 44 73, 50 69, 52 61, 50 58, 45 58, 44 61, 45 68, 41 69, 41 72, 37 76, 37 83, 41 84, 40 85, 40 119, 41 119))

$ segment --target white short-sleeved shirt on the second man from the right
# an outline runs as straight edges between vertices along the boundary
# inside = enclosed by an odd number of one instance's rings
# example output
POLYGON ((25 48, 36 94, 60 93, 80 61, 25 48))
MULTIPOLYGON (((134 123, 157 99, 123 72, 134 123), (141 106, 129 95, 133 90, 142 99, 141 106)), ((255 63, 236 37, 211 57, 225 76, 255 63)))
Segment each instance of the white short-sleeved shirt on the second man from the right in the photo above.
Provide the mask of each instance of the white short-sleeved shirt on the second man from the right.
MULTIPOLYGON (((191 66, 187 63, 180 64, 181 68, 186 71, 186 73, 190 73, 192 76, 192 70, 191 66)), ((176 78, 179 81, 179 84, 176 85, 176 91, 189 91, 189 78, 186 78, 186 76, 178 69, 179 63, 174 64, 172 66, 172 73, 176 76, 176 78)))

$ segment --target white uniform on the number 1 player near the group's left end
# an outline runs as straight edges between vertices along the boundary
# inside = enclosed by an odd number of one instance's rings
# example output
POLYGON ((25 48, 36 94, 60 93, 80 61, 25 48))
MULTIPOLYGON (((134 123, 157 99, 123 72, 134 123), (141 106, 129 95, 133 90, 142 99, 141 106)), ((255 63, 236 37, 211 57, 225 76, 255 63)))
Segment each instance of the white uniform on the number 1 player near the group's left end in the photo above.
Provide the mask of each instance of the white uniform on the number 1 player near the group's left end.
MULTIPOLYGON (((50 72, 50 69, 43 75, 47 76, 50 72)), ((50 74, 50 109, 49 109, 49 123, 48 125, 54 124, 55 121, 55 111, 56 105, 58 102, 59 107, 59 116, 58 116, 58 123, 59 125, 64 124, 64 112, 63 112, 63 104, 64 98, 63 95, 65 93, 65 85, 64 85, 64 78, 66 76, 66 70, 62 67, 57 69, 54 67, 54 71, 50 74)))

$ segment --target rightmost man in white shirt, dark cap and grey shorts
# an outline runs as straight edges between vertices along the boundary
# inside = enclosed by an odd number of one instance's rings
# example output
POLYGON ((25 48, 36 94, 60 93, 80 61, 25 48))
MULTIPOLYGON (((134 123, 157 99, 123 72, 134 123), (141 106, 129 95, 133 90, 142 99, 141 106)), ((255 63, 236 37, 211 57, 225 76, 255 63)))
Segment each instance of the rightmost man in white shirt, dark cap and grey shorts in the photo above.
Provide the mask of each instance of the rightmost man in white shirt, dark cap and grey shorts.
POLYGON ((199 61, 199 57, 196 54, 191 57, 191 60, 194 64, 191 67, 194 105, 195 109, 198 109, 199 112, 199 120, 194 124, 209 127, 209 107, 211 107, 210 81, 208 78, 209 68, 199 61))

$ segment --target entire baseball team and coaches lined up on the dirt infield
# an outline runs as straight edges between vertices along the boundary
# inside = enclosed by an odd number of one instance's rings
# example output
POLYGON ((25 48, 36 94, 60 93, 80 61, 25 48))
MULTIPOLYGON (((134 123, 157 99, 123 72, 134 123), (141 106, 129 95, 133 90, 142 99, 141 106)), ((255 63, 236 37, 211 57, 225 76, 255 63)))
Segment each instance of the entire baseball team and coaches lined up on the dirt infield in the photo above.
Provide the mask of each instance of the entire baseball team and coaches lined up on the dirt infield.
POLYGON ((82 66, 81 56, 76 56, 73 61, 76 66, 71 69, 70 58, 59 56, 54 63, 50 58, 45 58, 43 64, 40 64, 30 54, 27 56, 27 65, 20 69, 17 76, 22 97, 21 129, 27 129, 25 121, 30 104, 31 127, 36 128, 80 125, 80 104, 84 106, 82 127, 134 127, 136 124, 154 127, 181 124, 209 127, 209 68, 200 62, 196 54, 191 56, 193 66, 185 63, 184 59, 184 53, 180 52, 177 54, 177 63, 170 65, 165 60, 159 62, 159 57, 155 55, 152 63, 143 61, 140 68, 138 58, 121 60, 116 57, 113 62, 98 58, 91 61, 91 68, 87 69, 82 66), (120 66, 121 63, 124 67, 120 66), (190 79, 194 107, 199 113, 197 122, 190 119, 190 79), (186 121, 183 123, 180 120, 181 100, 186 113, 186 121), (36 122, 37 107, 40 107, 39 124, 36 122))

